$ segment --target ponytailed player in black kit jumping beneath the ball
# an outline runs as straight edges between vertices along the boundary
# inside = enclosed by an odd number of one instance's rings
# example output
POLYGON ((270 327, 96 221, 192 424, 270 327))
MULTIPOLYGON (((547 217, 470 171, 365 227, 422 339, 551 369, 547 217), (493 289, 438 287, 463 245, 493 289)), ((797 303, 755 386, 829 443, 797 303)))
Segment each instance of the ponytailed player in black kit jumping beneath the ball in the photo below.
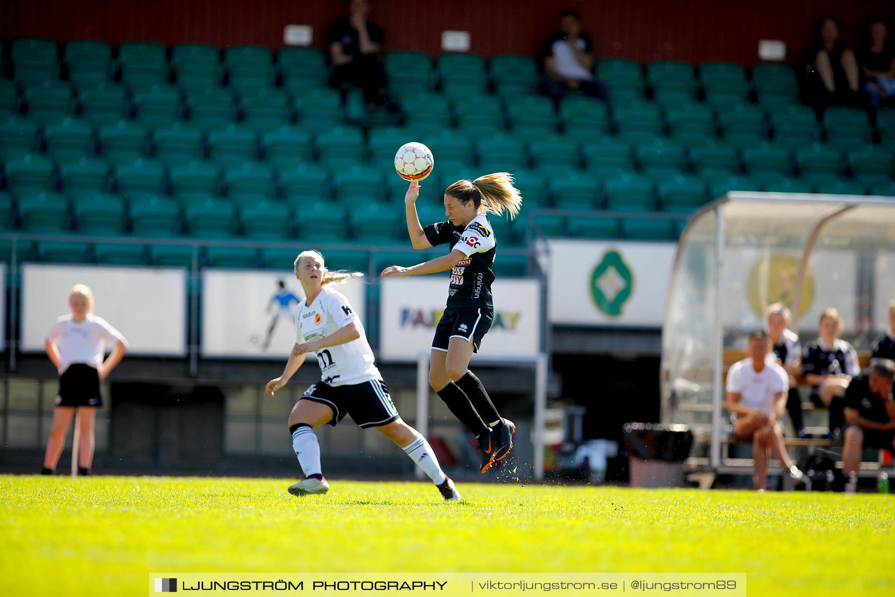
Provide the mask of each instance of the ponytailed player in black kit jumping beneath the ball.
POLYGON ((478 352, 482 337, 494 319, 491 282, 497 239, 487 214, 507 211, 516 217, 522 196, 506 172, 480 176, 474 181, 461 180, 447 187, 444 197, 446 222, 423 228, 416 215, 420 185, 415 181, 405 195, 407 232, 414 249, 447 244, 444 257, 410 268, 393 265, 382 277, 416 276, 451 272, 447 288, 447 307, 435 329, 429 383, 444 400, 451 413, 463 422, 479 440, 482 449, 482 473, 513 448, 516 425, 500 416, 491 403, 482 381, 469 371, 469 360, 478 352))

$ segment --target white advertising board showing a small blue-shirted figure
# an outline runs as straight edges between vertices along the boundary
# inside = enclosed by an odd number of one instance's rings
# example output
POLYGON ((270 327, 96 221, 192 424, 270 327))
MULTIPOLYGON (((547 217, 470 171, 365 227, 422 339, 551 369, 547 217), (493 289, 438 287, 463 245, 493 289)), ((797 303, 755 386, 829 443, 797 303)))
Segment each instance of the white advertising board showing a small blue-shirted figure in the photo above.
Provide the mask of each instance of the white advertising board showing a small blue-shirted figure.
MULTIPOLYGON (((334 286, 362 322, 363 279, 334 286)), ((202 356, 287 358, 295 344, 293 312, 303 300, 302 285, 288 270, 203 270, 202 356)))

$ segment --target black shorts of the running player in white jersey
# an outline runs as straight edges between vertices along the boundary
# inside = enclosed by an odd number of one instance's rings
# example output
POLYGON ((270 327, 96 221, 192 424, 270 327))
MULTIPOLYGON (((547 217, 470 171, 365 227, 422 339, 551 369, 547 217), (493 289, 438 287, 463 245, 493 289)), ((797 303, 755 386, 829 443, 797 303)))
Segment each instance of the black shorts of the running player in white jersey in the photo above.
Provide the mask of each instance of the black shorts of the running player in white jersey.
POLYGON ((333 411, 329 424, 335 427, 350 414, 359 427, 379 427, 396 421, 395 404, 388 396, 388 388, 382 380, 364 381, 346 386, 330 386, 325 381, 311 384, 299 400, 312 400, 327 405, 333 411))

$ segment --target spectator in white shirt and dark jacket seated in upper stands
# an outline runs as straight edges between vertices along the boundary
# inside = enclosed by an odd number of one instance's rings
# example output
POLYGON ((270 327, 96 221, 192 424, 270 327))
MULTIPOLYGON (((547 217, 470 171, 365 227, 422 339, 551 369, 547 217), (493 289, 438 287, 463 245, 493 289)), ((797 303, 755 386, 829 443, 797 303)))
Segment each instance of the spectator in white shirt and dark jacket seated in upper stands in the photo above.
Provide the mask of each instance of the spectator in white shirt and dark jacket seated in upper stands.
POLYGON ((581 16, 567 8, 559 13, 559 30, 541 45, 541 62, 547 75, 547 93, 558 101, 568 90, 581 90, 602 98, 606 89, 593 80, 591 36, 581 32, 581 16))

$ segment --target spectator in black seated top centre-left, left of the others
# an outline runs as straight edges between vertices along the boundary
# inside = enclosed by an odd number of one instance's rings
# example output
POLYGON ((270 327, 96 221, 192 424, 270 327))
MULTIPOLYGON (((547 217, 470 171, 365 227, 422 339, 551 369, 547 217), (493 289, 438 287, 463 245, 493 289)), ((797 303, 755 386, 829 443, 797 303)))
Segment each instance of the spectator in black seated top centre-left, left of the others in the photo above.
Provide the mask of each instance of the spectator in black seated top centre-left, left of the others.
POLYGON ((332 21, 327 30, 329 57, 336 67, 329 84, 359 87, 368 109, 375 110, 385 105, 388 98, 381 53, 385 33, 379 25, 367 21, 367 0, 347 0, 345 5, 348 16, 332 21))

